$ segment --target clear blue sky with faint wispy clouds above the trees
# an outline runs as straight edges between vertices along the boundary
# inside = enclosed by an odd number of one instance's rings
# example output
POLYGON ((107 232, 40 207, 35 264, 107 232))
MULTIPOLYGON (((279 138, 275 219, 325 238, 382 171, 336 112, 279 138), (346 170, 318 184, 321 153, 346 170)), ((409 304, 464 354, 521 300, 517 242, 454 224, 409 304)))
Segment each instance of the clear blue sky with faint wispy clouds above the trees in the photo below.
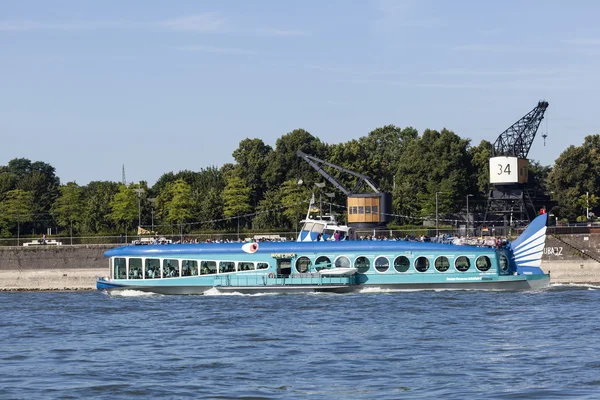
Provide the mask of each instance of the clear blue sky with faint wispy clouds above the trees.
POLYGON ((550 103, 529 159, 600 133, 600 2, 0 2, 0 165, 152 185, 297 128, 394 124, 473 146, 550 103), (548 135, 544 140, 542 133, 548 135))

